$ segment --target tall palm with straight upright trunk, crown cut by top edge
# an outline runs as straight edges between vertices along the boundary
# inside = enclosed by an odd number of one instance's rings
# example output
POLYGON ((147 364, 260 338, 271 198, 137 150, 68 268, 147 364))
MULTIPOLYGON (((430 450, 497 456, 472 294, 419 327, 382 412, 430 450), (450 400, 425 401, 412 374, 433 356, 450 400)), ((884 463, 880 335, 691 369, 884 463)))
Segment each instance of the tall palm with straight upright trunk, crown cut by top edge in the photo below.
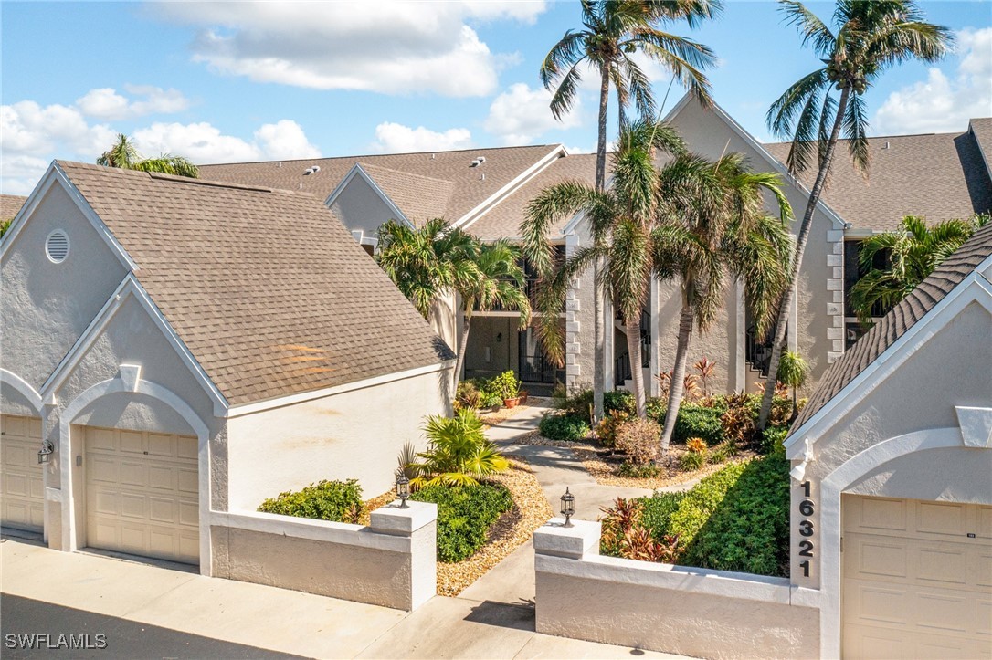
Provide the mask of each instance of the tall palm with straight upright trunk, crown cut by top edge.
MULTIPOLYGON (((712 18, 722 8, 720 0, 674 0, 644 2, 635 0, 582 0, 582 26, 567 31, 545 57, 541 81, 546 89, 557 86, 551 109, 556 119, 568 112, 578 94, 580 66, 588 65, 599 75, 599 134, 596 143, 596 189, 606 187, 606 109, 610 85, 616 90, 621 129, 626 125, 624 108, 633 97, 642 117, 655 114, 651 80, 631 55, 638 51, 661 61, 682 84, 704 102, 709 102, 709 82, 702 69, 716 57, 701 44, 663 32, 661 23, 684 20, 689 27, 712 18)), ((600 280, 602 265, 594 267, 600 280)), ((604 337, 603 291, 593 293, 594 368, 593 410, 603 414, 604 337)))

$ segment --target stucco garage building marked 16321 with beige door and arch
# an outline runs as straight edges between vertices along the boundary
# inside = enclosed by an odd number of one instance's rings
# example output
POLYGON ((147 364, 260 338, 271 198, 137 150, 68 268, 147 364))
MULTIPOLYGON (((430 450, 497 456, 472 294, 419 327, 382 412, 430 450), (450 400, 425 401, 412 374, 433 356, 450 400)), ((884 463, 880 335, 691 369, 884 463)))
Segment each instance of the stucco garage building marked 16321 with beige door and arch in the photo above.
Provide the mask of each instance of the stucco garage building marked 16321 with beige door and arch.
POLYGON ((822 657, 992 655, 992 225, 820 379, 786 439, 822 657))

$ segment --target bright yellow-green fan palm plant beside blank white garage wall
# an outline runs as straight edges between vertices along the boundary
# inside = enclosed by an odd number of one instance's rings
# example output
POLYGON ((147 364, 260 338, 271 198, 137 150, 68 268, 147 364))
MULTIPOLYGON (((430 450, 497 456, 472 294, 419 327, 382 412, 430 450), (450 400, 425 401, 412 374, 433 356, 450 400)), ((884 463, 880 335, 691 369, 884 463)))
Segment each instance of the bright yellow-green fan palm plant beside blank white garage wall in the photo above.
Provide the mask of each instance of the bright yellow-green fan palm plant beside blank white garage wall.
POLYGON ((482 419, 474 410, 462 408, 453 417, 431 415, 424 428, 431 446, 417 455, 423 461, 405 466, 417 474, 410 480, 415 488, 474 486, 479 479, 510 467, 486 439, 482 419))

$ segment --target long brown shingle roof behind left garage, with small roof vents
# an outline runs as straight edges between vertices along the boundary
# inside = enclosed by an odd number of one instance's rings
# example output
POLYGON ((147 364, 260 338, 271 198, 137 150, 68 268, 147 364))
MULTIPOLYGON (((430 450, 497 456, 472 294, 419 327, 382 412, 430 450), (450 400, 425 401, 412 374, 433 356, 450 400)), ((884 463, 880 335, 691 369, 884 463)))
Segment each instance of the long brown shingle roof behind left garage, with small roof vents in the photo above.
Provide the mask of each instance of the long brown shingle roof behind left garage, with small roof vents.
POLYGON ((451 181, 452 188, 443 209, 443 217, 454 222, 559 148, 558 145, 538 145, 456 152, 348 156, 281 163, 200 165, 199 171, 204 178, 303 190, 324 201, 356 163, 385 167, 451 181), (478 167, 469 166, 479 156, 485 157, 485 163, 478 167), (319 165, 320 170, 304 174, 311 165, 319 165))

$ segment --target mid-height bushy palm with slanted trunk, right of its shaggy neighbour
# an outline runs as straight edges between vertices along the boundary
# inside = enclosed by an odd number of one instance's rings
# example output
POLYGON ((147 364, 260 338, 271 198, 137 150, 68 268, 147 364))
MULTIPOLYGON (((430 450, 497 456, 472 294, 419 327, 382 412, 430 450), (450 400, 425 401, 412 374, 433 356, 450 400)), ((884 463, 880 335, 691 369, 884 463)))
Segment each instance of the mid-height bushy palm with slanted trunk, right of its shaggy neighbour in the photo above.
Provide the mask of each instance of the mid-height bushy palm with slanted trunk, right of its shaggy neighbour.
POLYGON ((693 326, 705 332, 716 319, 730 277, 743 281, 745 299, 760 330, 775 316, 775 302, 789 282, 792 240, 789 201, 777 174, 752 172, 744 157, 729 154, 718 161, 684 155, 659 175, 656 261, 667 265, 662 275, 681 283, 679 341, 670 380, 668 412, 662 431, 662 453, 668 452, 675 430, 685 361, 693 326), (779 217, 765 211, 765 194, 778 203, 779 217))

